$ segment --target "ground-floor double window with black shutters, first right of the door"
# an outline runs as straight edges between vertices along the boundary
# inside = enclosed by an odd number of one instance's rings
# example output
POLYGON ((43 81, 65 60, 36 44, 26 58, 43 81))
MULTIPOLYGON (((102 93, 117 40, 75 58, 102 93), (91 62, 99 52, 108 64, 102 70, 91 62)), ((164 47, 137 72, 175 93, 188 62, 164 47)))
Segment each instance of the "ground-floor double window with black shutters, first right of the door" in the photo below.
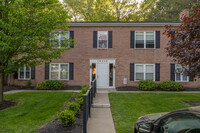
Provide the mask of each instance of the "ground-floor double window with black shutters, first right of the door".
POLYGON ((135 77, 137 80, 155 80, 154 64, 135 64, 135 77))

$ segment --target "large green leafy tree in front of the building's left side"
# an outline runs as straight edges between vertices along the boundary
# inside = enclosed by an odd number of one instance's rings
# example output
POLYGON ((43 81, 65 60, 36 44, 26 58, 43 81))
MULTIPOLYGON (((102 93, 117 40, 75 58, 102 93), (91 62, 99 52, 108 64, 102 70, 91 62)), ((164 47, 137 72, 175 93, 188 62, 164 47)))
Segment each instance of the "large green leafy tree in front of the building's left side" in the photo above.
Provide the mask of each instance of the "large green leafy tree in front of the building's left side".
POLYGON ((0 0, 0 102, 3 102, 5 74, 24 65, 61 58, 61 52, 72 40, 65 39, 63 48, 55 49, 59 45, 57 34, 49 33, 67 29, 67 18, 58 0, 0 0), (49 39, 55 39, 54 45, 46 42, 49 39))

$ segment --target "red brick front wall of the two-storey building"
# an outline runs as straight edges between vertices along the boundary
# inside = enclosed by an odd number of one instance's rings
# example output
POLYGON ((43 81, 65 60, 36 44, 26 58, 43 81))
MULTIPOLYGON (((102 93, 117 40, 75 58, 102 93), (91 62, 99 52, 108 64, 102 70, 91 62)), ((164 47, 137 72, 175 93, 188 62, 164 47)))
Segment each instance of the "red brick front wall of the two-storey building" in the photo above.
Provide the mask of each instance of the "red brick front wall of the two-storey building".
MULTIPOLYGON (((130 63, 160 63, 160 80, 170 80, 171 59, 166 56, 164 48, 167 47, 168 38, 163 35, 164 27, 71 27, 78 45, 62 53, 62 59, 53 60, 54 63, 74 63, 74 80, 64 81, 70 86, 89 84, 90 59, 110 58, 116 59, 115 86, 123 85, 123 78, 128 79, 126 86, 135 86, 137 82, 130 81, 130 63), (112 31, 113 48, 93 48, 93 31, 112 31), (130 48, 130 31, 160 31, 160 49, 133 49, 130 48)), ((36 66, 36 78, 33 85, 44 81, 44 64, 36 66)), ((199 80, 200 81, 200 80, 199 80)), ((199 87, 200 82, 184 82, 186 87, 199 87)), ((12 85, 23 85, 20 80, 11 80, 12 85)))

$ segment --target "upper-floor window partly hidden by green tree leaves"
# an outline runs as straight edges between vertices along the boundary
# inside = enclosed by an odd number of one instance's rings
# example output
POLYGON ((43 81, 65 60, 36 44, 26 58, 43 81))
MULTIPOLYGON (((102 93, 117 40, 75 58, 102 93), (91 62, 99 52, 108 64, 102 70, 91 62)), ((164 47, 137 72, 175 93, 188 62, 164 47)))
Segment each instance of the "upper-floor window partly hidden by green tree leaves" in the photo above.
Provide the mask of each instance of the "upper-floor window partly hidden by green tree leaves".
POLYGON ((51 39, 51 43, 57 47, 61 48, 61 44, 65 39, 69 39, 69 31, 64 31, 65 34, 61 34, 61 32, 54 32, 54 39, 51 39))

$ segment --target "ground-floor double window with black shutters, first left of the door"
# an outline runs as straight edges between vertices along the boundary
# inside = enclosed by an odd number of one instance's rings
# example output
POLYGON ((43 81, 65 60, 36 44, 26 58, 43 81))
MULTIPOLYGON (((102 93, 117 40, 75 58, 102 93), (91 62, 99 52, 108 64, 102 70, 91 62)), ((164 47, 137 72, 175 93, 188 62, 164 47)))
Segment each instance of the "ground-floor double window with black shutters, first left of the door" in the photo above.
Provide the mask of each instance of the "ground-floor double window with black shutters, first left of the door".
POLYGON ((50 64, 51 80, 69 80, 68 63, 51 63, 50 64))

